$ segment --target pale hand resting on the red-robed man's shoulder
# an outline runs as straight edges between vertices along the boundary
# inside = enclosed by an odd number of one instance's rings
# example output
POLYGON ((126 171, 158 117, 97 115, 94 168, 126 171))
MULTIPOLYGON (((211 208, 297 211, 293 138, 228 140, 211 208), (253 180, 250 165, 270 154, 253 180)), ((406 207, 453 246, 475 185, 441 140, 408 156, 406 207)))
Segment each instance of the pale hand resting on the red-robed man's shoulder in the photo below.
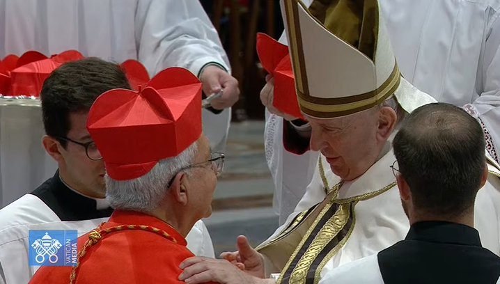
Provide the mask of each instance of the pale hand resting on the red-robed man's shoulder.
POLYGON ((267 283, 264 279, 244 273, 227 260, 194 256, 184 260, 179 267, 180 269, 184 269, 179 276, 179 280, 190 284, 210 281, 221 284, 267 283))

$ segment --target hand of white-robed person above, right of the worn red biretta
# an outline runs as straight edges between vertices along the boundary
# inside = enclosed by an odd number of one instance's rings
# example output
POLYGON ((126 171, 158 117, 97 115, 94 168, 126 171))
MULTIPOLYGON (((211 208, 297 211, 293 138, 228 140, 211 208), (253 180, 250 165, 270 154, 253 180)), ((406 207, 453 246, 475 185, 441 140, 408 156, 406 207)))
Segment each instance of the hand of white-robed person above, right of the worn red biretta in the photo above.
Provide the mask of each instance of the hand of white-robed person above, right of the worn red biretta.
POLYGON ((207 96, 219 93, 221 89, 224 89, 221 97, 215 98, 210 103, 214 109, 227 109, 240 99, 237 79, 216 65, 207 66, 201 73, 200 81, 203 93, 207 96))

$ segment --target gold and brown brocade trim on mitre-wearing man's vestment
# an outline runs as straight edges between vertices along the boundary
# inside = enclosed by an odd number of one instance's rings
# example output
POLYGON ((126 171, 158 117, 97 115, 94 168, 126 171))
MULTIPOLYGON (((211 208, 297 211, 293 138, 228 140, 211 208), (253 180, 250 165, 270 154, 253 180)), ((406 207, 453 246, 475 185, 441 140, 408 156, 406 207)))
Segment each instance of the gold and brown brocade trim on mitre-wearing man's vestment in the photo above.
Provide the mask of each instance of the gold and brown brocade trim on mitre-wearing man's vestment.
POLYGON ((322 268, 350 237, 355 224, 354 206, 396 185, 392 182, 368 194, 338 199, 343 182, 330 188, 321 159, 318 164, 327 194, 325 200, 298 214, 277 237, 256 248, 272 263, 272 270, 281 271, 277 284, 318 283, 322 268))

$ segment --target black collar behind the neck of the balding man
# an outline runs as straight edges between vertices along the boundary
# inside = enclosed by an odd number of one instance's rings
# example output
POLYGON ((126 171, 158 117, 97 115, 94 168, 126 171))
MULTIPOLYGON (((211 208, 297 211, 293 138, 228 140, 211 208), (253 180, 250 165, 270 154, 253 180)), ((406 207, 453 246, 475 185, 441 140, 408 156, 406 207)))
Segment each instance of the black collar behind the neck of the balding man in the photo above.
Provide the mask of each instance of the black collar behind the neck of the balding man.
POLYGON ((479 232, 469 226, 444 221, 414 223, 405 240, 481 246, 479 232))

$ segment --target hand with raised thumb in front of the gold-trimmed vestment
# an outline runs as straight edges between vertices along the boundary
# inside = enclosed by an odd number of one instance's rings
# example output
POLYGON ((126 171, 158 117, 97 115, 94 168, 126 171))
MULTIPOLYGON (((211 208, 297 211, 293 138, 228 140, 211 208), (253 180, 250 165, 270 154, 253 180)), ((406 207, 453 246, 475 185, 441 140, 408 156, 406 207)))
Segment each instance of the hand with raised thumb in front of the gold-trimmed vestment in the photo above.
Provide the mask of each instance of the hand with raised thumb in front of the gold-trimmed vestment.
POLYGON ((252 248, 247 237, 239 236, 236 240, 238 251, 233 253, 221 253, 221 258, 224 258, 233 265, 247 272, 251 276, 264 278, 264 258, 258 253, 255 248, 252 248))

